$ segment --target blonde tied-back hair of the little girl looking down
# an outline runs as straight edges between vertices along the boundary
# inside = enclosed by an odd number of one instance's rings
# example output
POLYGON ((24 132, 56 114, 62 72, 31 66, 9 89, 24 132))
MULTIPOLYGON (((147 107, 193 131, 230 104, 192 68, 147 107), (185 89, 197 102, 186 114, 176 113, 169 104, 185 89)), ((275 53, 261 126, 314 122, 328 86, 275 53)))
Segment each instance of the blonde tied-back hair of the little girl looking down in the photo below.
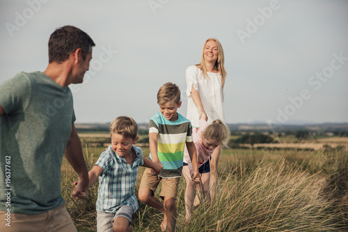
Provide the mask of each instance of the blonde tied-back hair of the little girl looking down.
POLYGON ((205 128, 203 135, 205 139, 214 139, 219 144, 227 146, 230 129, 220 119, 216 119, 205 128))

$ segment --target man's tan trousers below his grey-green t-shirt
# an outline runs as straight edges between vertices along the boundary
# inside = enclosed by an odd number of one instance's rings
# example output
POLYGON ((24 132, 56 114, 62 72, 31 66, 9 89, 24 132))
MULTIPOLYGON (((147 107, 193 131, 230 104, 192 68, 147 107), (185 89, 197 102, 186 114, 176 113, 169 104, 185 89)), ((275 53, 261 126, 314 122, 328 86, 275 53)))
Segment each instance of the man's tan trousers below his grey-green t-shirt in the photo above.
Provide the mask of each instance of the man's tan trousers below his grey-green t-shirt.
POLYGON ((0 210, 0 231, 77 232, 77 229, 65 205, 62 205, 38 215, 24 215, 22 213, 8 215, 8 212, 0 210), (10 223, 8 224, 8 222, 10 223))

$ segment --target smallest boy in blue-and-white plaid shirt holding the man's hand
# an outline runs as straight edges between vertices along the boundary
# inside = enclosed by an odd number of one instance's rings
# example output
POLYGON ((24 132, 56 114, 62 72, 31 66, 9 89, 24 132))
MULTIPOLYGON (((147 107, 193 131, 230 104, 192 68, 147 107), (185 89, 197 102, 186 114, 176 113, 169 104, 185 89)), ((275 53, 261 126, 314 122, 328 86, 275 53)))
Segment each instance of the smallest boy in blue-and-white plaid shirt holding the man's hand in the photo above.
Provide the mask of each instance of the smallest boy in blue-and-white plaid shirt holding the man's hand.
POLYGON ((133 118, 120 116, 110 125, 111 146, 99 157, 88 173, 89 186, 99 178, 97 231, 133 231, 132 215, 138 209, 134 185, 139 166, 157 174, 159 164, 143 157, 141 148, 132 146, 138 138, 133 118))

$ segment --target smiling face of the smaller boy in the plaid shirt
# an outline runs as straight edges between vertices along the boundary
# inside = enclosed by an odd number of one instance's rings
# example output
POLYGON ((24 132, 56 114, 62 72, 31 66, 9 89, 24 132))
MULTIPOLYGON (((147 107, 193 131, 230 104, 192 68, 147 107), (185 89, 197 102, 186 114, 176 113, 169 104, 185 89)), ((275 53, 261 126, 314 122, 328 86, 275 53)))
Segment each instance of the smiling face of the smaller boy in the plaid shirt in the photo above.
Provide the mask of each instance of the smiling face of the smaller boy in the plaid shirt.
POLYGON ((111 147, 112 150, 120 157, 127 157, 130 155, 132 145, 136 144, 139 137, 135 139, 126 138, 122 134, 111 133, 111 147))

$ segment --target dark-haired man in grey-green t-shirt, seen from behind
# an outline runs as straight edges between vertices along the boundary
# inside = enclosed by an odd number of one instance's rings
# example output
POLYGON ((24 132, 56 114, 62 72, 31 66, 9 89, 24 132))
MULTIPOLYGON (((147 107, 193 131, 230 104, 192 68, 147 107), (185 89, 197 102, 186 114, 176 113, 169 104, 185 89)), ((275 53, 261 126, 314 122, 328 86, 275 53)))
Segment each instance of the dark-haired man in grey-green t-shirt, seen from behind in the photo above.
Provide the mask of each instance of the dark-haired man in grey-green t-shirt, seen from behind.
POLYGON ((0 231, 77 231, 61 196, 63 154, 88 192, 88 171, 74 127, 70 84, 83 82, 93 40, 74 26, 49 38, 44 72, 20 72, 0 85, 0 231))

